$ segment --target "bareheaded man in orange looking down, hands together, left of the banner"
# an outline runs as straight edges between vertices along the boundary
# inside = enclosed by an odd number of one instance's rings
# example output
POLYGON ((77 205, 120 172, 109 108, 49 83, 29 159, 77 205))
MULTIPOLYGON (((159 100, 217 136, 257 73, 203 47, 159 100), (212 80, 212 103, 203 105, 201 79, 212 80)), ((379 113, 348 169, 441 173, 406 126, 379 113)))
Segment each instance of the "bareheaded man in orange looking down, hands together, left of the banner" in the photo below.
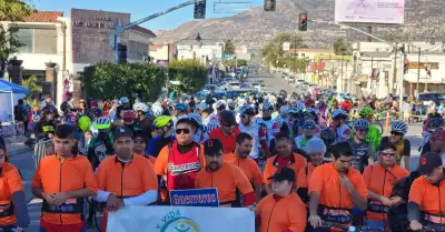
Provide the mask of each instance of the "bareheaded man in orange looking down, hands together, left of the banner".
POLYGON ((32 194, 43 199, 40 231, 83 232, 85 198, 97 194, 92 168, 83 155, 73 154, 72 128, 60 124, 55 130, 55 155, 44 157, 32 178, 32 194))

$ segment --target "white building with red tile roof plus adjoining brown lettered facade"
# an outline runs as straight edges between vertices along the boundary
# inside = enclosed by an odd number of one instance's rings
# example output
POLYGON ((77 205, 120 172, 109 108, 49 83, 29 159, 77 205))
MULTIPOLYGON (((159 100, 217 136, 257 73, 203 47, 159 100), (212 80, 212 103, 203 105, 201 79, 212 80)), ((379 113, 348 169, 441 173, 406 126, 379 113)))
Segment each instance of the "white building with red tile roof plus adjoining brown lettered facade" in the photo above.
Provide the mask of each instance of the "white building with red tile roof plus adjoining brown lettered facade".
MULTIPOLYGON (((130 13, 71 9, 70 16, 65 17, 63 12, 36 11, 22 22, 1 23, 4 28, 18 28, 23 47, 14 57, 22 60, 22 77, 38 77, 44 94, 53 95, 56 83, 56 102, 60 103, 67 90, 81 98, 77 78, 85 67, 116 60, 110 43, 118 19, 129 23, 130 13)), ((149 40, 155 37, 154 32, 138 26, 127 30, 121 42, 127 46, 128 62, 145 61, 149 40)))

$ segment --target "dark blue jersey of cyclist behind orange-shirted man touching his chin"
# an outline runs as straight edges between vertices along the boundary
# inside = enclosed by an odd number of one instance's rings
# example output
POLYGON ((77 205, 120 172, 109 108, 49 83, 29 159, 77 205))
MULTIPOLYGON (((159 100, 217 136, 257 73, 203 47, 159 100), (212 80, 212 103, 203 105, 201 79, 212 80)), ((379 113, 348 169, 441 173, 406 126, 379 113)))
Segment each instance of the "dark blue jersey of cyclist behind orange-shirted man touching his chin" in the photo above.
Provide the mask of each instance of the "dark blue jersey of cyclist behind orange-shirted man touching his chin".
POLYGON ((373 147, 368 142, 356 143, 354 139, 347 140, 353 150, 350 167, 363 172, 368 164, 368 158, 374 158, 373 147))

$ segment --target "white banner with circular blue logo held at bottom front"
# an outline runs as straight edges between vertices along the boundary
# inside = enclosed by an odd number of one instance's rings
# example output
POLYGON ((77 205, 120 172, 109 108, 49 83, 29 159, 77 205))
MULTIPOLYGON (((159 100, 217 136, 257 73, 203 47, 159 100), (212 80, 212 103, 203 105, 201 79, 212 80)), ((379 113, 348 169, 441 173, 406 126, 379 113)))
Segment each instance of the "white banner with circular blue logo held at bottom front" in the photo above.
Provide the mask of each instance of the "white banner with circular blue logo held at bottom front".
POLYGON ((108 214, 107 232, 255 232, 246 208, 128 205, 108 214))

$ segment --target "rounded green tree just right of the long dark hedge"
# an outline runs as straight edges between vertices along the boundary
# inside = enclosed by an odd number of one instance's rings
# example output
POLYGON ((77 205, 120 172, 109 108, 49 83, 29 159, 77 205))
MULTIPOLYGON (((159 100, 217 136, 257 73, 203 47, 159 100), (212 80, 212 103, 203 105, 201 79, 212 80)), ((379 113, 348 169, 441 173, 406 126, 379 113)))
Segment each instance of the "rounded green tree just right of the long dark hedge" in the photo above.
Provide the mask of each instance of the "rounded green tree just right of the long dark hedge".
POLYGON ((195 93, 207 83, 208 73, 199 60, 174 60, 168 67, 168 79, 179 81, 179 85, 171 87, 179 93, 195 93))

